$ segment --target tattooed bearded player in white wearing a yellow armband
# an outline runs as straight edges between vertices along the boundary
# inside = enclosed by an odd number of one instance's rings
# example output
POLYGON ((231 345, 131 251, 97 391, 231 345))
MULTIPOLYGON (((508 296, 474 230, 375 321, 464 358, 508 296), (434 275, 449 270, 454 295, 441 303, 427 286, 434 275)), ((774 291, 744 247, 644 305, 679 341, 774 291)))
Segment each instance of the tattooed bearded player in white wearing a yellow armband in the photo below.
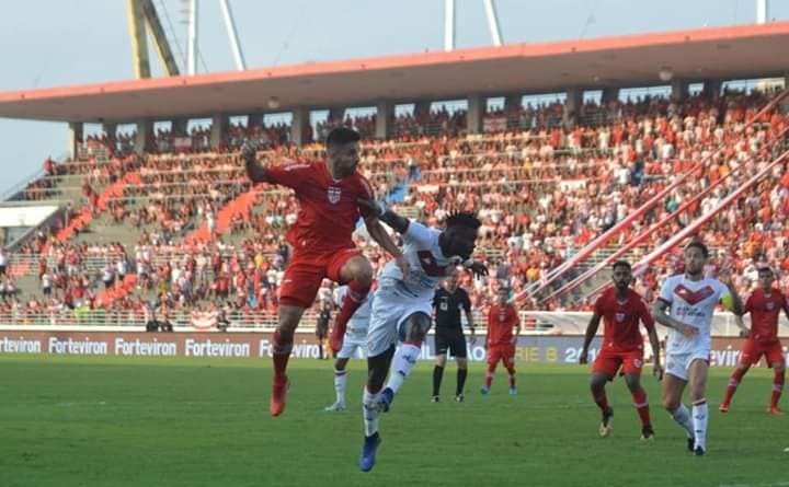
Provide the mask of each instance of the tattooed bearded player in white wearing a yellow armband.
POLYGON ((665 280, 652 306, 655 321, 667 326, 666 369, 663 379, 663 405, 688 434, 688 449, 696 455, 707 451, 706 398, 711 347, 712 312, 718 302, 731 297, 731 308, 742 314, 742 300, 728 277, 724 282, 705 278, 709 257, 701 242, 689 243, 684 251, 685 274, 665 280), (666 310, 671 310, 666 314, 666 310), (683 404, 685 385, 690 385, 693 411, 683 404))

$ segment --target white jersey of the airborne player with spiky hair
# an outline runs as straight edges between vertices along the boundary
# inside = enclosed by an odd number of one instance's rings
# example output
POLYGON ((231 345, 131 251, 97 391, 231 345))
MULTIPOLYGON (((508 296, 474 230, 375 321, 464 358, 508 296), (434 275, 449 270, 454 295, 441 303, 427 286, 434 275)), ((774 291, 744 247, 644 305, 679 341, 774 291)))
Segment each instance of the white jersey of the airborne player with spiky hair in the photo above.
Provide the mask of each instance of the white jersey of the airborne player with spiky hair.
POLYGON ((410 221, 402 234, 402 252, 411 275, 404 280, 400 267, 390 260, 378 278, 378 289, 401 298, 432 301, 438 283, 462 262, 458 256, 444 255, 438 246, 438 235, 441 231, 410 221))

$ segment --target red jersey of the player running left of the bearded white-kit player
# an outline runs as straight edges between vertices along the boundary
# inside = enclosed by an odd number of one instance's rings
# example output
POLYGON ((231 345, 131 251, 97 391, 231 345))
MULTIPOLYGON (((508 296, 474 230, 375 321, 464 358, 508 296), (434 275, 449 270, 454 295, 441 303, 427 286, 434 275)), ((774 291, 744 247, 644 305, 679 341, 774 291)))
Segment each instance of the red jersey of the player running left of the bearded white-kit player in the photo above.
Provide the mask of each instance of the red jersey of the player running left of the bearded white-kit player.
POLYGON ((647 329, 654 328, 654 321, 641 295, 628 289, 627 300, 617 298, 616 289, 604 292, 594 305, 594 314, 603 316, 603 347, 632 350, 643 348, 643 338, 639 331, 639 321, 647 329))

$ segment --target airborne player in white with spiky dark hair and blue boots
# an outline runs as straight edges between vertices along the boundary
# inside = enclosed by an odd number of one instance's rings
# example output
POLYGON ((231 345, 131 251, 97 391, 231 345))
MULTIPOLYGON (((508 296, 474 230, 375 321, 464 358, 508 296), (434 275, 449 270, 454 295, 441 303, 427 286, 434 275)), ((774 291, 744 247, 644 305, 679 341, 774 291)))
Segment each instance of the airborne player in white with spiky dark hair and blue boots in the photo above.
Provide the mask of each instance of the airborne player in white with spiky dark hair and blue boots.
POLYGON ((402 252, 411 269, 404 278, 395 262, 389 262, 378 278, 373 302, 367 333, 367 385, 363 399, 365 440, 359 456, 359 468, 369 472, 380 443, 378 417, 381 411, 389 410, 403 380, 416 363, 422 340, 432 323, 435 288, 459 264, 476 275, 488 274, 488 269, 470 259, 481 225, 474 213, 450 213, 446 229, 439 231, 409 221, 380 202, 359 200, 359 206, 370 208, 402 235, 402 252), (396 352, 398 339, 402 345, 396 352), (390 363, 391 373, 384 387, 390 363))

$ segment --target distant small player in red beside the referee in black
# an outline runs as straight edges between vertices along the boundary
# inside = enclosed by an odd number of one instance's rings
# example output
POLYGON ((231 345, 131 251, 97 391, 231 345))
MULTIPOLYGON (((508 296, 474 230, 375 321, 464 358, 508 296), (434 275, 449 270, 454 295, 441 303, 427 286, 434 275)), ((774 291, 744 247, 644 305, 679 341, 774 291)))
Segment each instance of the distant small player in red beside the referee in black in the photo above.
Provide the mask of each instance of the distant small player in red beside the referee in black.
POLYGON ((515 389, 515 344, 521 334, 521 318, 515 306, 507 303, 510 288, 500 288, 496 303, 488 312, 488 334, 485 335, 485 349, 488 350, 488 372, 485 383, 480 389, 482 394, 490 392, 493 374, 499 361, 510 373, 510 395, 517 394, 515 389), (513 328, 515 335, 513 336, 513 328))

